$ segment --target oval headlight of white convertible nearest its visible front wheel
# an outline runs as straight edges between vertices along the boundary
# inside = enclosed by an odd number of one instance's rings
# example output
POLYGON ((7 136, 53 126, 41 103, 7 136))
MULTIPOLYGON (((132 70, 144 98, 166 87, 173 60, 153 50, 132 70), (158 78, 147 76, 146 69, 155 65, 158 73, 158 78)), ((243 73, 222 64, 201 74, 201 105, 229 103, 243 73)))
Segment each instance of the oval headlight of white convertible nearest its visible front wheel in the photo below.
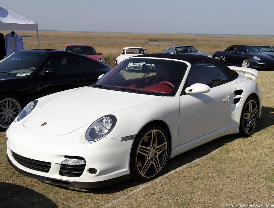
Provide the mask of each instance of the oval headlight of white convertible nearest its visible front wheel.
POLYGON ((106 136, 114 128, 116 117, 114 115, 106 115, 97 119, 90 125, 86 131, 86 139, 95 142, 106 136))

